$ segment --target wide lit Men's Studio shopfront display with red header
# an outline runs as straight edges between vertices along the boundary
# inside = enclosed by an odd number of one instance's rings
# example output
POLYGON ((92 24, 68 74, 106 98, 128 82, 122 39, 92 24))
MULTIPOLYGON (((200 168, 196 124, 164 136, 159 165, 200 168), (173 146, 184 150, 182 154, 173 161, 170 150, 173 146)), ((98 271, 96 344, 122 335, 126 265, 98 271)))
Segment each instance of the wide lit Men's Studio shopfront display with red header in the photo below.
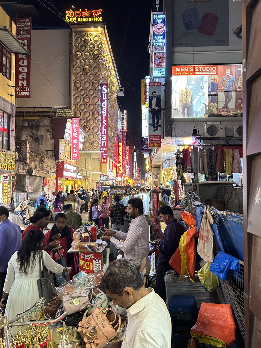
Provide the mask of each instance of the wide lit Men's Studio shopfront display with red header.
POLYGON ((242 65, 172 66, 172 117, 242 116, 242 65))

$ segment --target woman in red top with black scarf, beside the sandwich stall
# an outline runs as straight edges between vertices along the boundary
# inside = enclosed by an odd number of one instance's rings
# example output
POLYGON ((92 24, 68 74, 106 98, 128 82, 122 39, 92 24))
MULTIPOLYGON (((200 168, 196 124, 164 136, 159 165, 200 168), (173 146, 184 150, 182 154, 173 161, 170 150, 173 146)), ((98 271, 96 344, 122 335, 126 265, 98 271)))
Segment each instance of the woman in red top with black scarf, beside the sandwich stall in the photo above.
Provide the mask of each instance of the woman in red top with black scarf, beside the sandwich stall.
MULTIPOLYGON (((71 280, 77 273, 78 258, 76 253, 68 253, 68 250, 71 248, 74 229, 66 226, 66 220, 67 218, 64 213, 58 213, 55 216, 55 224, 45 235, 43 247, 58 240, 58 244, 60 243, 61 247, 64 249, 63 256, 65 256, 66 264, 68 267, 72 268, 72 272, 69 274, 69 280, 71 280)), ((50 250, 47 250, 47 252, 50 254, 50 250)))

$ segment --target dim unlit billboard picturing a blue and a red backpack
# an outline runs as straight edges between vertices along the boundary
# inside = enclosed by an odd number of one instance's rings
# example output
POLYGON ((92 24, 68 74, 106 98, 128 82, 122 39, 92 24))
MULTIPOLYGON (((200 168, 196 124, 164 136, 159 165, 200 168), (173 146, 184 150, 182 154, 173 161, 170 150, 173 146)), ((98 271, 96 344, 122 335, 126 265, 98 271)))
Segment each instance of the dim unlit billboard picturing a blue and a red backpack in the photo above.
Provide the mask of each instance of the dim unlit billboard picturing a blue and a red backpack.
POLYGON ((229 46, 228 0, 175 0, 174 46, 229 46))

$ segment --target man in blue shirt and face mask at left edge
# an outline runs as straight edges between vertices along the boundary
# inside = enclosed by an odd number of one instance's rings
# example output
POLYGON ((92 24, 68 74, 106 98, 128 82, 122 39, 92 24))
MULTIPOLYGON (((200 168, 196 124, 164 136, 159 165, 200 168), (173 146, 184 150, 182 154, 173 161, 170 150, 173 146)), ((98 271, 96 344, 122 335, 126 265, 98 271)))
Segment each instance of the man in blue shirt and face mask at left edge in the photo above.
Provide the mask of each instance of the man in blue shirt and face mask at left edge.
POLYGON ((22 245, 21 228, 8 219, 9 211, 3 205, 0 206, 0 296, 3 293, 8 262, 11 256, 22 245))

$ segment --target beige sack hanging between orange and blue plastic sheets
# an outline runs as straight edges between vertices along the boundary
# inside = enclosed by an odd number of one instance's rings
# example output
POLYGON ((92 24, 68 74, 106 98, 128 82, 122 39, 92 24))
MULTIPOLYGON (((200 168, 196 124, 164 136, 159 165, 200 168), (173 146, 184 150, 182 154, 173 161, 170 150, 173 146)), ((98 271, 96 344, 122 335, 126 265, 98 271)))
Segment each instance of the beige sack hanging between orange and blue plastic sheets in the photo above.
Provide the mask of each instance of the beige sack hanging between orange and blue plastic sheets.
POLYGON ((213 262, 213 229, 214 224, 213 216, 206 206, 204 210, 204 215, 202 218, 199 236, 198 236, 198 248, 197 252, 201 258, 207 262, 213 262))

